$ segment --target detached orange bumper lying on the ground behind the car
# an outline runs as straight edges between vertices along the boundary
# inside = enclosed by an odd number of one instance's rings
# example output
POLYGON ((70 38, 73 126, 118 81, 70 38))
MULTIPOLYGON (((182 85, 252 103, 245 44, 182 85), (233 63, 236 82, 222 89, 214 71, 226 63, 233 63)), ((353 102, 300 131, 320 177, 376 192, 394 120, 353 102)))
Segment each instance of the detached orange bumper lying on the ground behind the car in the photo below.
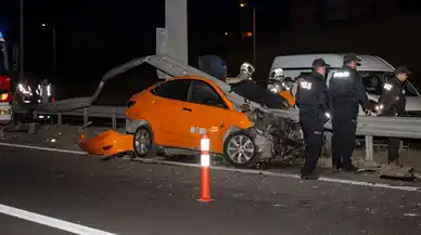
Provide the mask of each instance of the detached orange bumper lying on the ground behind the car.
POLYGON ((90 155, 113 156, 132 152, 133 135, 107 130, 92 139, 86 139, 81 135, 79 146, 90 155))

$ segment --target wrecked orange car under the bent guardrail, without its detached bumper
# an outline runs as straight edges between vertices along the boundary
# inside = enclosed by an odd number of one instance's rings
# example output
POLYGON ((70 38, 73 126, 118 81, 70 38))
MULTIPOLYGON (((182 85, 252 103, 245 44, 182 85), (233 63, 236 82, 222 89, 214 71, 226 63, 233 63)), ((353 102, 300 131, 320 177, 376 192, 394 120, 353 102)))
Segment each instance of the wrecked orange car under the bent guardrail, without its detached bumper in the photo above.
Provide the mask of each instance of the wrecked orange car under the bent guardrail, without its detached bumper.
POLYGON ((130 99, 126 116, 126 131, 133 134, 139 157, 155 156, 157 146, 199 151, 202 133, 209 136, 214 154, 231 156, 230 141, 243 145, 238 159, 228 158, 234 165, 250 164, 257 152, 241 131, 253 126, 247 115, 235 110, 213 81, 201 77, 158 82, 130 99))

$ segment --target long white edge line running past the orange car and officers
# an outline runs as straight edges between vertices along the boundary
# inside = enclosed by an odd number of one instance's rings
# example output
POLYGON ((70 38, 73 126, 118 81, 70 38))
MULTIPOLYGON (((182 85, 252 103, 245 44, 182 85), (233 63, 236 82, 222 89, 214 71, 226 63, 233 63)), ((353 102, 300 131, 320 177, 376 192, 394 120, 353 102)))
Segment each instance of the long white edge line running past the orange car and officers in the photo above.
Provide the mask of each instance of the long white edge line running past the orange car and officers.
MULTIPOLYGON (((58 153, 65 153, 65 154, 88 155, 87 153, 81 151, 67 151, 67 149, 61 149, 61 148, 38 147, 33 145, 10 144, 10 143, 1 143, 1 142, 0 142, 0 146, 22 147, 22 148, 29 148, 29 149, 37 149, 37 151, 50 151, 50 152, 58 152, 58 153)), ((156 160, 156 159, 142 159, 141 161, 145 164, 162 164, 162 165, 195 167, 195 168, 201 167, 199 164, 186 164, 186 162, 177 162, 177 161, 156 160)), ((231 172, 242 172, 242 173, 251 173, 251 174, 263 174, 263 175, 271 175, 271 177, 299 179, 298 174, 292 174, 292 173, 280 173, 280 172, 253 170, 253 169, 235 169, 235 168, 216 167, 216 166, 210 166, 210 168, 214 170, 220 170, 220 171, 231 171, 231 172)), ((416 187, 416 186, 397 186, 397 185, 391 185, 391 184, 384 184, 384 183, 344 180, 344 179, 337 179, 337 178, 319 178, 318 181, 421 193, 421 187, 416 187)))

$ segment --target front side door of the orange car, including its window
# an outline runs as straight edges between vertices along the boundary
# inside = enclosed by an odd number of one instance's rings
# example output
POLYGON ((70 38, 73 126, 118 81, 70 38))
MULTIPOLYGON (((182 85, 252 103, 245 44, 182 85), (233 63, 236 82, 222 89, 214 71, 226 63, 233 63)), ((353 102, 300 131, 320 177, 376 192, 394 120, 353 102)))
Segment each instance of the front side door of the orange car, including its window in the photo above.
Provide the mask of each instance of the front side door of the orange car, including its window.
POLYGON ((221 140, 227 129, 225 119, 230 110, 207 82, 194 80, 191 86, 188 107, 192 109, 189 119, 191 123, 191 147, 200 148, 201 134, 206 132, 210 140, 210 151, 221 152, 221 140))

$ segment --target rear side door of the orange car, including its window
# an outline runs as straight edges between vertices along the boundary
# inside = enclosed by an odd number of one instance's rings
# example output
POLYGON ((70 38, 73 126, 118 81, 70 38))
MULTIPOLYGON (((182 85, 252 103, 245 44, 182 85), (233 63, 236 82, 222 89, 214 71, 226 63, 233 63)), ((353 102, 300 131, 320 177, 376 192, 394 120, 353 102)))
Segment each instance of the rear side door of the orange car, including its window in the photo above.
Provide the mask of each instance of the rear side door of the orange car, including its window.
POLYGON ((191 80, 176 79, 167 81, 151 91, 156 99, 152 101, 154 107, 150 108, 151 118, 156 122, 156 143, 188 147, 190 140, 190 125, 186 121, 191 109, 186 107, 191 80))

